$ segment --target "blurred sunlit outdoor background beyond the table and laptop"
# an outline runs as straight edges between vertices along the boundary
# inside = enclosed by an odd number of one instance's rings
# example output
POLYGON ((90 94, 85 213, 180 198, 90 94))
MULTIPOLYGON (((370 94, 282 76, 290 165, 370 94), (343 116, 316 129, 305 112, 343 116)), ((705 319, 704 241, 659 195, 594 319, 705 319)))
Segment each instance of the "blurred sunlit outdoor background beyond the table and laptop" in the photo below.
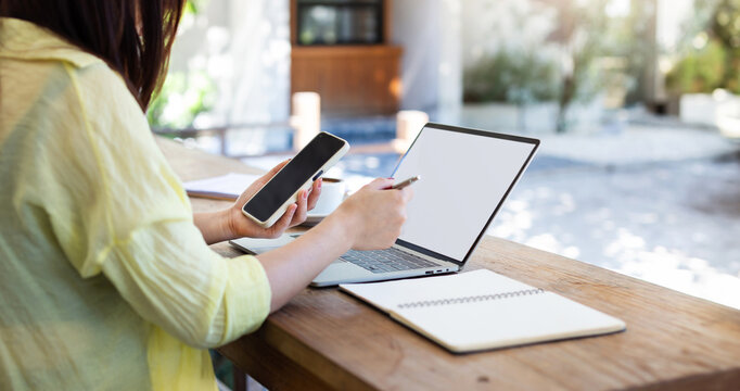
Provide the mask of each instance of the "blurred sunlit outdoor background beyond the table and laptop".
MULTIPOLYGON (((193 0, 155 133, 388 176, 426 121, 541 149, 489 234, 740 308, 740 0, 193 0)), ((462 186, 462 184, 461 184, 462 186)))

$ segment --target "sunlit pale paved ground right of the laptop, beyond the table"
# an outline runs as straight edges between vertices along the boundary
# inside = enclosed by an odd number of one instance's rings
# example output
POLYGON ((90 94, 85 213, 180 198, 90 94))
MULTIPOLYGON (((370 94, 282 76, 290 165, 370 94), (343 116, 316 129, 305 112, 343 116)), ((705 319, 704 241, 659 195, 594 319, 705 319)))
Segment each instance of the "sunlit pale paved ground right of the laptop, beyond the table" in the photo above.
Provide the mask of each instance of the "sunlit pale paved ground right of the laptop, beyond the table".
POLYGON ((740 308, 740 156, 531 173, 489 234, 740 308))

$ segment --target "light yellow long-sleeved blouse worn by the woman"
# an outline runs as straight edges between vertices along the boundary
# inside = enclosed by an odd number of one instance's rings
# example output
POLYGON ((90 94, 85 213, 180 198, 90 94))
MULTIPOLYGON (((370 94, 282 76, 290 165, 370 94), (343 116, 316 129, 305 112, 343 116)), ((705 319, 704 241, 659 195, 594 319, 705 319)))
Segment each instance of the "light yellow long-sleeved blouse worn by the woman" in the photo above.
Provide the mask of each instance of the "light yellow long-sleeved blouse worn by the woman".
POLYGON ((0 18, 0 389, 215 389, 270 287, 214 253, 122 77, 0 18))

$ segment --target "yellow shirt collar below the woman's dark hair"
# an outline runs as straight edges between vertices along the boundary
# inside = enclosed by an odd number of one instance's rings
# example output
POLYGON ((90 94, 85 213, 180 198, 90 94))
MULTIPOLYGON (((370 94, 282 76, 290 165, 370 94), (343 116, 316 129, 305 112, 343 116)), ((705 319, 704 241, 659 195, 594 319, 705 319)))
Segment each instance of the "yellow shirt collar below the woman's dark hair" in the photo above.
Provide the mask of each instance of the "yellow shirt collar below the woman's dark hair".
POLYGON ((77 67, 102 62, 47 28, 12 17, 0 17, 0 58, 64 61, 77 67))

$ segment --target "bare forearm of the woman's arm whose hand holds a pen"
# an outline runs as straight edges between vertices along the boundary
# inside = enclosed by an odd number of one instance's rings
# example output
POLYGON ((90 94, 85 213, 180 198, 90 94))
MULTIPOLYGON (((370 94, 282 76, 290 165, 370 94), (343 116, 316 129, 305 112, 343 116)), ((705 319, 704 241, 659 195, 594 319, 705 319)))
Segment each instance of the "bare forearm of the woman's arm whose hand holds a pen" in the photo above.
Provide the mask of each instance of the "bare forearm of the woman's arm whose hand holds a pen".
POLYGON ((332 214, 282 248, 257 256, 270 281, 270 312, 280 310, 354 243, 349 216, 332 214))

